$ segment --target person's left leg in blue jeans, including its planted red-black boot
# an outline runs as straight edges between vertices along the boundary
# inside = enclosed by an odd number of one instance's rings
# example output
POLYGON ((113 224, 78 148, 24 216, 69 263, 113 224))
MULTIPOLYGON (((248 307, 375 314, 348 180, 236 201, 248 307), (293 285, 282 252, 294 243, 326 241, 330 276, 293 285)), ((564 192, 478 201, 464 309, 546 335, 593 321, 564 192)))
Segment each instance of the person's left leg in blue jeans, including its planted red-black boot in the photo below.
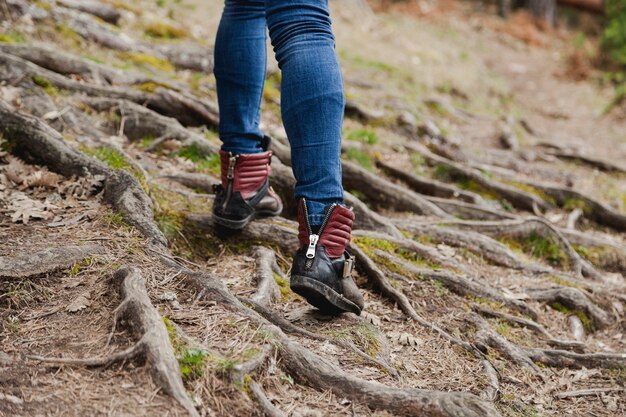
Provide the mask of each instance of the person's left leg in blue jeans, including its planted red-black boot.
POLYGON ((269 186, 272 152, 259 129, 266 67, 263 0, 226 0, 215 40, 215 79, 220 108, 222 183, 213 220, 242 229, 259 216, 282 211, 269 186))

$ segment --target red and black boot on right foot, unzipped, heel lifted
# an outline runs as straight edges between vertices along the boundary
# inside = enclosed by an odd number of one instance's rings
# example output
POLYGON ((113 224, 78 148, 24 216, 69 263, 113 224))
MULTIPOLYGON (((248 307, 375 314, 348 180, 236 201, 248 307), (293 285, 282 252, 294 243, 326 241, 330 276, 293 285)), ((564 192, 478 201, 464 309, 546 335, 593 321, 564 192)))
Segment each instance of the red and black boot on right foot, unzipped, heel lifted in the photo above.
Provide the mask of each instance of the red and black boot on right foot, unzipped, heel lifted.
POLYGON ((291 267, 291 289, 326 314, 359 315, 363 310, 363 296, 352 280, 354 257, 346 252, 353 221, 352 210, 332 204, 315 230, 309 224, 306 201, 299 201, 300 249, 291 267))

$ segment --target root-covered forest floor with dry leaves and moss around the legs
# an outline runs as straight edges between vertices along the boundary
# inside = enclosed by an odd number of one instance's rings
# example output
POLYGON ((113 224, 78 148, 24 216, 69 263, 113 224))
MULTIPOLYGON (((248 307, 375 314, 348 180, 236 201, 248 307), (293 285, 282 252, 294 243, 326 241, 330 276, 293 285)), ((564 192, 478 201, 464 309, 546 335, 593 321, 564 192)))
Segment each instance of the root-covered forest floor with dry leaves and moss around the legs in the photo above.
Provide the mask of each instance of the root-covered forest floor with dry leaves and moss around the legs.
POLYGON ((331 1, 366 300, 331 318, 271 48, 284 217, 220 239, 222 2, 0 0, 0 416, 626 415, 626 108, 576 31, 415 4, 331 1))

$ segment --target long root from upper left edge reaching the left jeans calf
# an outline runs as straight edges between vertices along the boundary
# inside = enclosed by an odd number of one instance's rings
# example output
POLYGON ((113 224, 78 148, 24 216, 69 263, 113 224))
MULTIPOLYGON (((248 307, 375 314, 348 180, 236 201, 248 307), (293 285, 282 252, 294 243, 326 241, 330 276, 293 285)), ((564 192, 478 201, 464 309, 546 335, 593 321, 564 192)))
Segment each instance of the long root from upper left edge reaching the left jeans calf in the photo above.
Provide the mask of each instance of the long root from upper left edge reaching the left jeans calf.
POLYGON ((111 99, 125 99, 142 104, 163 115, 174 117, 185 125, 208 125, 216 127, 219 117, 215 106, 194 97, 163 88, 156 87, 153 93, 138 89, 98 86, 71 80, 56 72, 48 71, 32 62, 24 61, 13 55, 0 52, 0 81, 12 85, 34 86, 33 77, 47 80, 53 86, 77 93, 111 99))

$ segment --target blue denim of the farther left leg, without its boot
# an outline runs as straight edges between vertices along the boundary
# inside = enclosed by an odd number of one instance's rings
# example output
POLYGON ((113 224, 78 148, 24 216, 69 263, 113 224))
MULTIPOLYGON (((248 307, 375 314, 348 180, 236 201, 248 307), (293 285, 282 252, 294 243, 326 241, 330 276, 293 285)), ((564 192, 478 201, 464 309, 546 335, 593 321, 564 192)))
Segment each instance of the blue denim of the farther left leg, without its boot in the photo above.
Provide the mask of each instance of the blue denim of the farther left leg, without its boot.
POLYGON ((263 0, 226 0, 215 39, 215 79, 222 149, 261 152, 261 98, 266 68, 263 0))

